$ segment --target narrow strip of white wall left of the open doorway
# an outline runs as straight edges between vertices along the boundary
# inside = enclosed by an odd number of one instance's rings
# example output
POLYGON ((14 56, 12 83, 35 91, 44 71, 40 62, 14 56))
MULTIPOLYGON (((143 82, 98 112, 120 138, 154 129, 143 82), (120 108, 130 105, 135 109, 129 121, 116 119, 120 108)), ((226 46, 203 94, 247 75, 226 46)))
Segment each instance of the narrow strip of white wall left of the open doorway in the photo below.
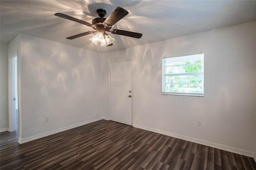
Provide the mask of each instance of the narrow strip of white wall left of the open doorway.
POLYGON ((0 132, 8 130, 7 44, 0 45, 0 132))

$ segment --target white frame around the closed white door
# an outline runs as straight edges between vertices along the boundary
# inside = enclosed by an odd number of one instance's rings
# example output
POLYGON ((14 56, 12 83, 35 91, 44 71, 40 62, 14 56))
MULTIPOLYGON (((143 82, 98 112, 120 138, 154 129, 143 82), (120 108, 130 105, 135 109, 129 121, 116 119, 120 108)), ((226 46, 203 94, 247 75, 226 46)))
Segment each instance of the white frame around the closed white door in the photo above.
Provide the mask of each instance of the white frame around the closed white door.
MULTIPOLYGON (((111 86, 111 63, 117 63, 117 62, 122 62, 122 61, 132 61, 132 58, 126 58, 126 59, 118 59, 118 60, 109 60, 108 64, 108 119, 111 120, 111 91, 110 91, 110 86, 111 86)), ((133 91, 133 61, 132 61, 132 127, 133 127, 133 98, 134 98, 134 91, 133 91)))

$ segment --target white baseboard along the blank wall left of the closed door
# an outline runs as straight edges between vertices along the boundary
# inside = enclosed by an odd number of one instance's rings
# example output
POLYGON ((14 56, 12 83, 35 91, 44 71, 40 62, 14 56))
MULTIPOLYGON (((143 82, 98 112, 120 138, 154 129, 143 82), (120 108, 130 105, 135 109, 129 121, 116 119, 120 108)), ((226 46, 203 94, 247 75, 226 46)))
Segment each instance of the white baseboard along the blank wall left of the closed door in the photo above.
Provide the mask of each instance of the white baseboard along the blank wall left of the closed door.
POLYGON ((52 134, 56 134, 56 133, 59 133, 59 132, 63 132, 65 130, 69 130, 69 129, 72 129, 72 128, 80 127, 82 125, 86 125, 86 124, 89 124, 89 123, 92 123, 92 122, 100 121, 102 119, 103 119, 103 117, 99 117, 99 118, 96 118, 96 119, 90 119, 88 121, 84 121, 84 122, 77 123, 77 124, 74 124, 74 125, 70 125, 70 126, 67 126, 67 127, 58 128, 56 130, 51 130, 49 132, 44 132, 44 133, 36 134, 34 136, 29 136, 27 138, 19 138, 18 142, 20 144, 26 143, 26 142, 30 142, 32 140, 43 138, 43 137, 46 137, 46 136, 49 136, 49 135, 52 135, 52 134))

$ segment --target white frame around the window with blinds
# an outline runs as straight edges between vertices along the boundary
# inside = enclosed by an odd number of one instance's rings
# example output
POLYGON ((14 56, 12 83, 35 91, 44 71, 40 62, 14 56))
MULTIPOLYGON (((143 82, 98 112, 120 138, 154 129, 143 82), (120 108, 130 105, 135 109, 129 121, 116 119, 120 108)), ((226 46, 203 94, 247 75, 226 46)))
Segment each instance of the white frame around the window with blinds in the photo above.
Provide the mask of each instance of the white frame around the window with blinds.
MULTIPOLYGON (((202 61, 203 61, 203 68, 204 68, 204 52, 201 53, 196 53, 196 54, 190 54, 190 55, 200 55, 202 54, 202 61)), ((175 56, 175 57, 186 57, 190 55, 180 55, 180 56, 175 56)), ((165 91, 165 83, 166 83, 166 74, 165 74, 165 66, 164 66, 164 59, 166 58, 174 58, 174 57, 162 57, 162 95, 184 95, 184 96, 198 96, 198 97, 204 97, 204 71, 203 73, 198 73, 202 74, 202 93, 182 93, 182 92, 166 92, 165 91)), ((204 69, 203 69, 204 70, 204 69)), ((191 75, 194 73, 186 73, 184 75, 191 75)), ((174 74, 173 74, 174 75, 174 74)))

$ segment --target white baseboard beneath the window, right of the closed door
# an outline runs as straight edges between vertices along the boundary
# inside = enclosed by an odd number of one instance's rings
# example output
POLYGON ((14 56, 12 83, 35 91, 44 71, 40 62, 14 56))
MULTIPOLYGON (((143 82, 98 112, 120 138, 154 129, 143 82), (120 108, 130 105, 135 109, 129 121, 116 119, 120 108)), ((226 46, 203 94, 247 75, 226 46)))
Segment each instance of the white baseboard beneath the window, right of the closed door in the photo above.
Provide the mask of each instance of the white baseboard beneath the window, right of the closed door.
POLYGON ((256 159, 255 158, 255 153, 250 152, 248 150, 233 148, 233 147, 230 147, 230 146, 213 143, 213 142, 209 142, 209 141, 206 141, 206 140, 192 138, 192 137, 189 137, 189 136, 175 134, 175 133, 172 133, 172 132, 167 132, 167 131, 159 130, 159 129, 155 129, 155 128, 145 127, 145 126, 142 126, 142 125, 134 124, 133 127, 141 128, 141 129, 148 130, 148 131, 151 131, 151 132, 164 134, 164 135, 167 135, 167 136, 172 136, 174 138, 179 138, 179 139, 182 139, 182 140, 187 140, 187 141, 198 143, 198 144, 203 144, 203 145, 210 146, 210 147, 213 147, 213 148, 218 148, 218 149, 221 149, 221 150, 226 150, 228 152, 233 152, 233 153, 248 156, 248 157, 254 157, 254 160, 256 159))

